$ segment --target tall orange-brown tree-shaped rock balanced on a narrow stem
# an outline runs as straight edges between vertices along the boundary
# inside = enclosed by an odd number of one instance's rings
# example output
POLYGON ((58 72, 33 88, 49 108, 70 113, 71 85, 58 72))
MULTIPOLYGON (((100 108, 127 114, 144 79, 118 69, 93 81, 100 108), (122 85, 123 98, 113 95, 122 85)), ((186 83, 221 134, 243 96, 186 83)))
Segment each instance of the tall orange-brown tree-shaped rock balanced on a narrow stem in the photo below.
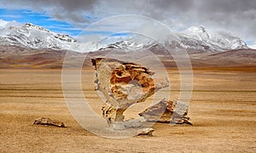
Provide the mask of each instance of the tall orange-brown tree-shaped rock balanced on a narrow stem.
POLYGON ((129 106, 169 86, 167 79, 154 80, 154 72, 143 65, 107 58, 91 59, 91 62, 96 69, 95 88, 107 99, 102 115, 109 123, 124 122, 123 113, 129 106))

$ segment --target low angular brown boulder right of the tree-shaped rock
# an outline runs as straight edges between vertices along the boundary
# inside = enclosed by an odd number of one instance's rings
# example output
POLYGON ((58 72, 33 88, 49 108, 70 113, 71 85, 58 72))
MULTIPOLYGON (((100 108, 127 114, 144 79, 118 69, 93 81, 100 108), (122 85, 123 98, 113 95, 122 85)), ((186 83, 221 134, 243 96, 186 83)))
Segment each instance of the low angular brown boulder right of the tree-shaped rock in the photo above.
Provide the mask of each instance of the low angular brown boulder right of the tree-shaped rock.
POLYGON ((188 105, 177 100, 162 99, 158 104, 148 107, 139 116, 147 122, 188 123, 188 105))

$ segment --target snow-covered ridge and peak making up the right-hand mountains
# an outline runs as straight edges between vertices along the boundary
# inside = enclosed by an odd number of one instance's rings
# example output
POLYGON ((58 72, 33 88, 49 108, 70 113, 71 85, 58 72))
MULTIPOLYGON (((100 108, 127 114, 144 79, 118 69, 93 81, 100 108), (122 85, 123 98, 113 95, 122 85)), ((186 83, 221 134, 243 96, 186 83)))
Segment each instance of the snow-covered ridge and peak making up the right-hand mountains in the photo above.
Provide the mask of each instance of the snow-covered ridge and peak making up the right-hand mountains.
MULTIPOLYGON (((167 48, 192 48, 212 51, 248 48, 246 42, 243 42, 239 37, 226 32, 210 34, 203 26, 193 26, 186 31, 173 33, 164 44, 167 48)), ((109 44, 106 48, 139 50, 141 48, 157 47, 158 45, 161 45, 160 42, 134 42, 129 39, 109 44)))

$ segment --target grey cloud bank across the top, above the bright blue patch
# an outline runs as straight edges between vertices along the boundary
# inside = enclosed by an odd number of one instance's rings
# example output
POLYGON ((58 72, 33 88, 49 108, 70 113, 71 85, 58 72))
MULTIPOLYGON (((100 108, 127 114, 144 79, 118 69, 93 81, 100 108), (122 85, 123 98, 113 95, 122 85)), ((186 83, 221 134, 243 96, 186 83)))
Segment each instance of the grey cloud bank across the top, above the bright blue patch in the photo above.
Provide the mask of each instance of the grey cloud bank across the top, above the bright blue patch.
POLYGON ((77 25, 91 22, 84 15, 102 19, 110 15, 141 14, 164 21, 174 30, 202 25, 256 40, 255 0, 0 0, 0 7, 29 8, 77 25))

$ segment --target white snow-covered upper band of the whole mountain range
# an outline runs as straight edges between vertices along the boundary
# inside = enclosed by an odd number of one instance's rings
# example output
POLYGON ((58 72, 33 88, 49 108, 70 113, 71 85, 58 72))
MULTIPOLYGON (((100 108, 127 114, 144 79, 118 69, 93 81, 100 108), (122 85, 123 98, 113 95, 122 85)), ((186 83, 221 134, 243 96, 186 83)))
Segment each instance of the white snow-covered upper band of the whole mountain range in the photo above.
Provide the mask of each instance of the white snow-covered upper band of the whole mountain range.
POLYGON ((248 48, 246 42, 226 32, 210 33, 203 26, 194 26, 182 32, 174 32, 166 42, 155 42, 145 38, 130 37, 127 40, 108 45, 94 42, 79 42, 73 37, 49 31, 41 26, 26 23, 23 26, 9 26, 0 29, 0 44, 17 45, 26 48, 66 49, 77 52, 89 52, 98 49, 116 48, 125 51, 143 48, 192 48, 197 50, 226 51, 248 48))

